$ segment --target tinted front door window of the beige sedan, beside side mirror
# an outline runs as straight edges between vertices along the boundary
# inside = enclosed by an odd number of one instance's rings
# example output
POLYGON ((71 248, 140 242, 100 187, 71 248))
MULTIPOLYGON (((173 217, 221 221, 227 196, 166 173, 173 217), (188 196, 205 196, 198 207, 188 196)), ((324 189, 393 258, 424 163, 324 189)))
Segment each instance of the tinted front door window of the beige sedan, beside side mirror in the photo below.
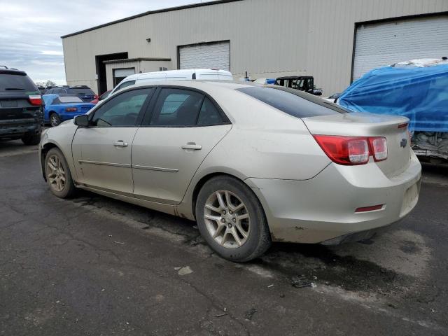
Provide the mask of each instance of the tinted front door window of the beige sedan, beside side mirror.
POLYGON ((91 123, 97 127, 132 127, 136 125, 141 107, 153 88, 132 90, 111 98, 94 112, 91 123))

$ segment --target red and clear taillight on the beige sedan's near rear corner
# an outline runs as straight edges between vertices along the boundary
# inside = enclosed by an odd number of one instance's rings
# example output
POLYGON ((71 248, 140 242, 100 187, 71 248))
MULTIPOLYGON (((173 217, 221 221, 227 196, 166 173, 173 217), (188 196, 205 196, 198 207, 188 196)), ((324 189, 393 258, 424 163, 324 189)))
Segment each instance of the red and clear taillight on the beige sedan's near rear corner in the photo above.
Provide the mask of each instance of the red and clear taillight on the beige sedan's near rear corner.
POLYGON ((314 135, 325 154, 339 165, 365 165, 370 155, 375 161, 386 160, 387 141, 384 137, 342 137, 314 135))

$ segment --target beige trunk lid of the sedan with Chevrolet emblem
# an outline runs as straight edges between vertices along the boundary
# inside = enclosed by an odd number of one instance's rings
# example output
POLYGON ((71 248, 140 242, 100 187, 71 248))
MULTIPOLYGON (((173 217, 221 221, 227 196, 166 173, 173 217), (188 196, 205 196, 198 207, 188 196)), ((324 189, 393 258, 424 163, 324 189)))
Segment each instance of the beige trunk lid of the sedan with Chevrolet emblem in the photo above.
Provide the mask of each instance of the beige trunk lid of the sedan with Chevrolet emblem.
MULTIPOLYGON (((407 127, 398 127, 409 123, 409 119, 405 117, 353 112, 302 118, 302 120, 311 134, 385 137, 387 159, 374 164, 378 165, 389 178, 404 172, 409 166, 412 150, 407 127)), ((373 162, 372 158, 370 162, 373 162)))

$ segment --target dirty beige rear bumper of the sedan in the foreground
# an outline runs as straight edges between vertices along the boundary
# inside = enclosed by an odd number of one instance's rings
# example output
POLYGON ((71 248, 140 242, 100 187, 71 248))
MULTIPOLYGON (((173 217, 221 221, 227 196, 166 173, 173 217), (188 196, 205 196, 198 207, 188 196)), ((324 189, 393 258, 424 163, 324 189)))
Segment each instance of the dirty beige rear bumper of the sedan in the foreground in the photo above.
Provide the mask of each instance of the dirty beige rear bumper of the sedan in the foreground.
POLYGON ((337 244, 338 237, 342 242, 356 232, 363 236, 361 232, 404 218, 418 201, 420 178, 421 165, 412 153, 405 172, 391 178, 375 164, 331 163, 306 181, 246 179, 246 183, 265 209, 274 241, 337 244), (384 206, 355 212, 378 204, 384 206))

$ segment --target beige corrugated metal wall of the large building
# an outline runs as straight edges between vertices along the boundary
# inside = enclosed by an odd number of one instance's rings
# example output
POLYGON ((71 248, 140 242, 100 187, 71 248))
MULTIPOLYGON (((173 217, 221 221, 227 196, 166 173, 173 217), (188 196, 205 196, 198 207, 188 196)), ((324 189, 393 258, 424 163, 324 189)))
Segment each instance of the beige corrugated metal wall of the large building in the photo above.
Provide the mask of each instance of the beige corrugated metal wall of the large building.
POLYGON ((64 38, 66 80, 96 88, 95 55, 169 57, 177 69, 178 45, 230 40, 235 78, 307 74, 331 94, 350 83, 355 22, 443 11, 447 0, 244 0, 155 13, 64 38))

